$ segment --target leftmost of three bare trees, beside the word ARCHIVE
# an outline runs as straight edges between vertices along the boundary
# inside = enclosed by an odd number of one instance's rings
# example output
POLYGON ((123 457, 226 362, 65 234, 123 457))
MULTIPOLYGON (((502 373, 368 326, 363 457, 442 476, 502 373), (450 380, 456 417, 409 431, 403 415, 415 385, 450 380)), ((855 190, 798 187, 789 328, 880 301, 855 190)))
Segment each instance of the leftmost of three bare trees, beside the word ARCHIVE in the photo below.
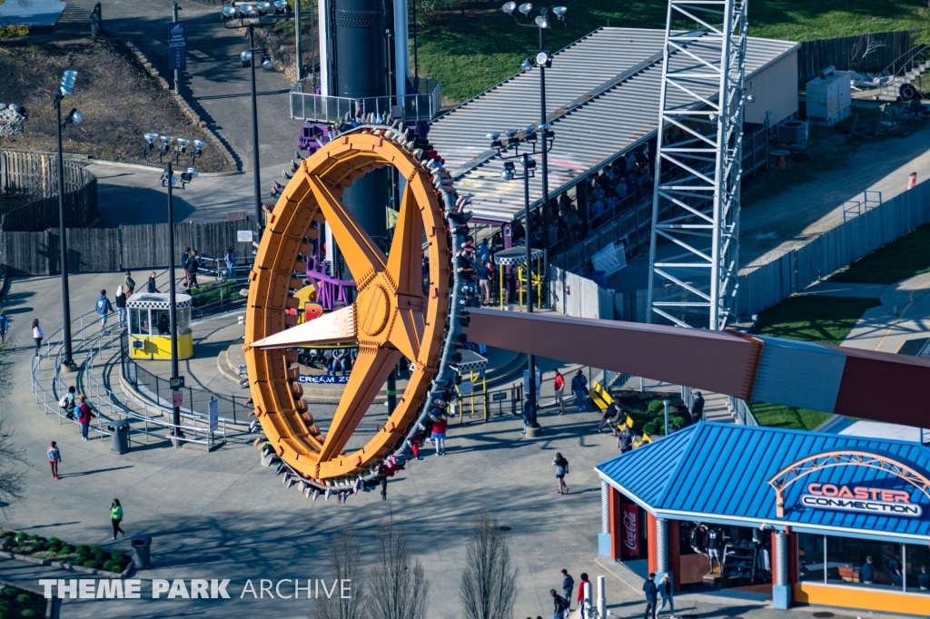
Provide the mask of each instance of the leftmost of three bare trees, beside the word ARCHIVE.
POLYGON ((309 619, 363 619, 365 616, 365 581, 362 576, 362 559, 352 526, 342 527, 329 548, 329 561, 333 567, 335 593, 316 599, 309 619), (343 583, 348 582, 346 597, 342 597, 343 583))

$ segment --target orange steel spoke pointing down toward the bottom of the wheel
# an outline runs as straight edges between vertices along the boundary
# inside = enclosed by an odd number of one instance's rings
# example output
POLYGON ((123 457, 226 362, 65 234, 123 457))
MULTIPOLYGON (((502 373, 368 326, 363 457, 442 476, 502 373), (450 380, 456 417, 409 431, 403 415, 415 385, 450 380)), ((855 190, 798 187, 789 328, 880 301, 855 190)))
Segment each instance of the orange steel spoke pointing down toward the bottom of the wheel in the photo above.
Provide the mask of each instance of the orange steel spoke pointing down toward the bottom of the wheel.
POLYGON ((341 453, 400 358, 401 353, 397 350, 365 345, 359 347, 358 359, 352 366, 352 374, 349 375, 345 389, 345 394, 352 394, 352 397, 343 397, 339 401, 336 415, 326 432, 326 441, 323 441, 320 450, 320 462, 326 462, 341 453))

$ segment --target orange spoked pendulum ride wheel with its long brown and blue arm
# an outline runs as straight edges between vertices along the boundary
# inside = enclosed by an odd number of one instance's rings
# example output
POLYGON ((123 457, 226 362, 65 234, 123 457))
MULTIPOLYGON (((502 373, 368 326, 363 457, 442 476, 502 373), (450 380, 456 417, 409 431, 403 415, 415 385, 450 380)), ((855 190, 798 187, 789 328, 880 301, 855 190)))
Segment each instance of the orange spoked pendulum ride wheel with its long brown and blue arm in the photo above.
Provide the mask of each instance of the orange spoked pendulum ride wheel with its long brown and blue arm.
POLYGON ((399 121, 361 120, 301 162, 272 210, 249 276, 245 349, 254 414, 267 454, 280 458, 289 483, 301 483, 308 496, 358 492, 403 468, 409 439, 434 401, 455 397, 457 349, 467 339, 747 401, 922 425, 912 387, 930 383, 930 362, 923 360, 729 331, 471 307, 471 258, 462 251, 468 198, 458 195, 425 139, 399 121), (358 178, 389 165, 406 182, 385 257, 340 196, 358 178), (303 285, 298 274, 307 270, 324 222, 357 294, 348 307, 297 324, 286 310, 299 304, 293 298, 303 285), (425 293, 424 251, 430 265, 425 293), (296 349, 347 342, 357 343, 358 359, 324 434, 301 398, 296 349), (363 447, 347 452, 402 358, 413 371, 397 407, 363 447), (873 388, 878 384, 881 393, 873 388))

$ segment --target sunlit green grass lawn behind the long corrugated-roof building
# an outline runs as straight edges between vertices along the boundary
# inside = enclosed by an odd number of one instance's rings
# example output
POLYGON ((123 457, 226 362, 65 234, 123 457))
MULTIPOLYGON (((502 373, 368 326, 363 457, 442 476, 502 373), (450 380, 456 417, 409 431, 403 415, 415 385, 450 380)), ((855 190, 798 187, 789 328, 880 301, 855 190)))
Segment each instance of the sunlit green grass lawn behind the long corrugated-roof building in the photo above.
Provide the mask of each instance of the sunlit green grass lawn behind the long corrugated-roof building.
MULTIPOLYGON (((526 50, 538 47, 538 30, 517 26, 500 10, 502 4, 502 0, 462 0, 450 9, 429 13, 420 26, 419 74, 443 82, 446 102, 469 99, 518 72, 526 50)), ((930 9, 922 4, 922 0, 764 0, 750 5, 750 34, 809 41, 923 29, 930 9)), ((607 25, 664 28, 666 5, 666 0, 566 2, 567 27, 553 22, 546 46, 558 50, 607 25)))

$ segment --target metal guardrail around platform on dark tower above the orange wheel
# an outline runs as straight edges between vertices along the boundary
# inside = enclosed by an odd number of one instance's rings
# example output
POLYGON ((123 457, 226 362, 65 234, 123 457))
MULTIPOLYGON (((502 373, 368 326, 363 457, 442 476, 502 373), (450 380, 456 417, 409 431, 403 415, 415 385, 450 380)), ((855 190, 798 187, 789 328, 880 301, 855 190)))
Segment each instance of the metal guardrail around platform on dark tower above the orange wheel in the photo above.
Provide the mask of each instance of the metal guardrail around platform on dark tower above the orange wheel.
POLYGON ((317 123, 335 124, 348 114, 354 118, 362 114, 376 113, 384 117, 396 116, 401 108, 407 123, 431 121, 442 107, 442 86, 436 80, 419 78, 417 92, 395 97, 328 97, 304 92, 306 79, 300 80, 290 91, 291 118, 317 123), (398 102, 399 101, 399 102, 398 102))

